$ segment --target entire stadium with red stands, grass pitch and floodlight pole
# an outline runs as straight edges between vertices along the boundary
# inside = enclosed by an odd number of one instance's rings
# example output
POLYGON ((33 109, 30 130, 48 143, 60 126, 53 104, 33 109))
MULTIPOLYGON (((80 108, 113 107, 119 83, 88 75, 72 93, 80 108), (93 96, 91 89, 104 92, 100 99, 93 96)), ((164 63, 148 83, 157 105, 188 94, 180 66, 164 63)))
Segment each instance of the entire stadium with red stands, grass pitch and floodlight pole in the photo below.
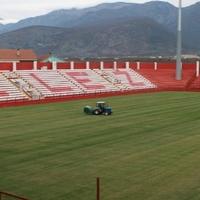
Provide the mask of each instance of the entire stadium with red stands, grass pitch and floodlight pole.
POLYGON ((200 61, 179 26, 177 43, 176 60, 0 49, 0 200, 200 199, 200 61))

